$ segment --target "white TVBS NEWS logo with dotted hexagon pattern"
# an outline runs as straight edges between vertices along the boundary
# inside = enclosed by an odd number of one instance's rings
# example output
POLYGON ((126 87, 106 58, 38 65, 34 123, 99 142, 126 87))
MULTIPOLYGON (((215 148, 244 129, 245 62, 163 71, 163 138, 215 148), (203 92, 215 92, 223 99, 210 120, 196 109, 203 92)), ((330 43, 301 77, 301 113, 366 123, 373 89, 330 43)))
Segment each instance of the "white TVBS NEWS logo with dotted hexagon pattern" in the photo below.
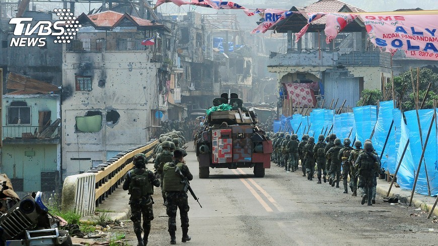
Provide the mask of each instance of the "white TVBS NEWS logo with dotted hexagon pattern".
POLYGON ((82 27, 69 9, 54 9, 60 21, 39 21, 32 23, 33 18, 12 18, 9 24, 15 25, 10 47, 43 47, 47 36, 56 37, 54 43, 70 43, 82 27))

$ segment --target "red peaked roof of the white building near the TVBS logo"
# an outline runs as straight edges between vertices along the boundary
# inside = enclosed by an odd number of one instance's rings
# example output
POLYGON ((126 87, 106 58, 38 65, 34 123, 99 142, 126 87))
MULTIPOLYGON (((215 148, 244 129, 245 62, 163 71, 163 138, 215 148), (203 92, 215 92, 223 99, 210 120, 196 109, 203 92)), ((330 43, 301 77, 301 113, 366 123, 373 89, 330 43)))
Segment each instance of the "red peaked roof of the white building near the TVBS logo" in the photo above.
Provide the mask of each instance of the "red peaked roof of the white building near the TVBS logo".
POLYGON ((128 26, 140 30, 165 29, 166 31, 170 31, 161 23, 133 17, 127 13, 121 14, 110 10, 92 15, 86 15, 85 13, 82 13, 78 17, 78 20, 80 23, 90 22, 96 29, 112 30, 121 26, 127 27, 126 21, 128 21, 131 23, 128 26))

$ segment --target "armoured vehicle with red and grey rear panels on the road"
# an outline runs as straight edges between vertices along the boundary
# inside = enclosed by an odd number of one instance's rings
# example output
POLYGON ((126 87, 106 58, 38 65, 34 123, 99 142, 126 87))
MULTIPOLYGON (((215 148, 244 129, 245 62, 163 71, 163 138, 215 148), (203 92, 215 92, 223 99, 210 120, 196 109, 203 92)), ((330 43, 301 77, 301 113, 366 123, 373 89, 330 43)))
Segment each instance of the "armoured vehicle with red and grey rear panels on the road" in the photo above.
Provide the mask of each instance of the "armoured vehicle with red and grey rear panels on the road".
POLYGON ((213 106, 196 140, 199 178, 208 178, 210 168, 254 168, 255 177, 264 177, 271 165, 272 141, 257 126, 256 114, 243 107, 235 93, 230 99, 227 93, 215 98, 213 106))

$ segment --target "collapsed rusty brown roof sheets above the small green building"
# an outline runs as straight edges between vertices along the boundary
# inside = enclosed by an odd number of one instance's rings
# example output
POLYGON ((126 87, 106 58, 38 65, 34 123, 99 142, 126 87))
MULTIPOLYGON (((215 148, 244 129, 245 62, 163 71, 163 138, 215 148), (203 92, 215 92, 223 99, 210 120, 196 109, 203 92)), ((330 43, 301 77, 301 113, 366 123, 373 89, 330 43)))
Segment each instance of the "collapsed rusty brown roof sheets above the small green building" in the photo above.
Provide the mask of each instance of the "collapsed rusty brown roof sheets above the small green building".
POLYGON ((8 75, 6 88, 16 90, 7 95, 49 94, 59 91, 57 86, 13 72, 8 75))

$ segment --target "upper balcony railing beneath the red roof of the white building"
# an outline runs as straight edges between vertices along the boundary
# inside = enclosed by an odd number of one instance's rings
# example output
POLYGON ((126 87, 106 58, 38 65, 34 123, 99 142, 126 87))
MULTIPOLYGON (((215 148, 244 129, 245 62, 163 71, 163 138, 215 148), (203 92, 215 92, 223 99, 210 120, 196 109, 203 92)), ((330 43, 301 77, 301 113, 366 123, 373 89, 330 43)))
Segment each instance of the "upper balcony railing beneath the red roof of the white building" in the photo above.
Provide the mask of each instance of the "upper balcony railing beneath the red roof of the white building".
POLYGON ((152 50, 149 47, 141 45, 141 38, 119 38, 115 40, 90 39, 82 38, 71 40, 66 45, 66 51, 75 52, 101 52, 106 51, 144 51, 152 50))

